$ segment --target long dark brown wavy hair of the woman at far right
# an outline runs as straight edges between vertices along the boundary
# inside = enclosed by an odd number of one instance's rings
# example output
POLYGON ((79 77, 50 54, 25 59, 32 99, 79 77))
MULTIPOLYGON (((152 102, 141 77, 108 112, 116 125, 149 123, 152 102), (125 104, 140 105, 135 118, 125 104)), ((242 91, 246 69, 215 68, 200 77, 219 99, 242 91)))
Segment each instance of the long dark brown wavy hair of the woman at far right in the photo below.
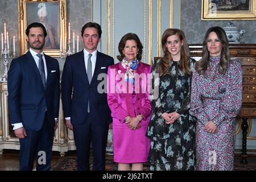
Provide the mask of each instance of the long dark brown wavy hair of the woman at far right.
POLYGON ((221 60, 218 64, 218 72, 224 74, 228 69, 228 62, 229 62, 229 45, 228 45, 228 38, 226 36, 225 31, 221 27, 210 27, 204 36, 203 41, 203 52, 202 52, 202 59, 196 62, 196 71, 197 73, 204 74, 209 67, 209 57, 210 53, 207 48, 207 41, 210 32, 215 32, 217 34, 218 40, 222 44, 221 49, 221 60))

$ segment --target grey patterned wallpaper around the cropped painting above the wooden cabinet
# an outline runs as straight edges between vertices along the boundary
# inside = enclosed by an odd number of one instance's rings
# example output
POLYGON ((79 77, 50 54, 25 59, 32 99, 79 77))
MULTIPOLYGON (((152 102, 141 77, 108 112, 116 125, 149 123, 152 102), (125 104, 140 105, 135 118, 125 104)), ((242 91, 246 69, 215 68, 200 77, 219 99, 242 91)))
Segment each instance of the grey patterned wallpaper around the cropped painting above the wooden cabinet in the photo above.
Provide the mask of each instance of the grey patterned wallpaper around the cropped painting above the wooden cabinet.
MULTIPOLYGON (((256 20, 234 20, 232 22, 238 30, 244 29, 246 31, 242 35, 241 42, 256 43, 256 20)), ((225 27, 227 23, 227 20, 202 21, 201 0, 181 1, 181 29, 185 32, 189 44, 201 43, 209 27, 225 27)))

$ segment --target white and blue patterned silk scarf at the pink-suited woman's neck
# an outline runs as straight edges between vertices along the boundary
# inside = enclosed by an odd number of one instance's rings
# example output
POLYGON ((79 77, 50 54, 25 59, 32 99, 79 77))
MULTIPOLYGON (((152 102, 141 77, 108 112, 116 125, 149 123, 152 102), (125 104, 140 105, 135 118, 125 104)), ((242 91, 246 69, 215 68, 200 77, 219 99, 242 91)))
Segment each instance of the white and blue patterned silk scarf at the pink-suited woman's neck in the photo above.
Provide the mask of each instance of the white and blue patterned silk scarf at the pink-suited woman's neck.
POLYGON ((122 60, 122 66, 126 69, 125 81, 134 83, 134 71, 138 68, 139 61, 135 58, 133 61, 127 61, 124 57, 122 60))

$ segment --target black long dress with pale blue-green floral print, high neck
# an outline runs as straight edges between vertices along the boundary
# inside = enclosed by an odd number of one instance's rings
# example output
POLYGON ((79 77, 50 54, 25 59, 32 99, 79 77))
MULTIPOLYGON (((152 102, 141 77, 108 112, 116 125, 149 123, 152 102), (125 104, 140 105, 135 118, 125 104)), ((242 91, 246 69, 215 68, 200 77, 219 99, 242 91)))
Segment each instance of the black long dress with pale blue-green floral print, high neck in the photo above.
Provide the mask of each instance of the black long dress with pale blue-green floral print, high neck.
MULTIPOLYGON (((159 73, 161 60, 152 68, 159 73)), ((189 60, 192 65, 195 60, 189 60)), ((153 114, 146 136, 151 139, 148 160, 150 170, 193 170, 195 167, 195 118, 189 115, 191 76, 180 71, 180 61, 172 61, 169 73, 153 79, 159 84, 159 97, 151 101, 153 114), (163 113, 181 115, 173 124, 166 124, 163 113)), ((154 94, 154 92, 152 93, 154 94)))

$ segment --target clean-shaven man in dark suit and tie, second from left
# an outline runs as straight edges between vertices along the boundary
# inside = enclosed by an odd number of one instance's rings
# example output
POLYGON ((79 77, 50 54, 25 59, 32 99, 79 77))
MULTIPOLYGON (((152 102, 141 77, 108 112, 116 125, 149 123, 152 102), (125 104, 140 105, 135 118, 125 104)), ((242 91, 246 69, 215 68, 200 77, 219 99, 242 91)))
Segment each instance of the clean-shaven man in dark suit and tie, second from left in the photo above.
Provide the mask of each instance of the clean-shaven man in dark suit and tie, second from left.
POLYGON ((82 27, 84 49, 67 57, 61 77, 64 117, 75 138, 77 170, 89 171, 91 142, 93 170, 105 170, 110 109, 106 93, 97 90, 102 81, 97 77, 100 73, 106 75, 114 60, 97 51, 101 33, 101 27, 97 23, 89 22, 82 27))

